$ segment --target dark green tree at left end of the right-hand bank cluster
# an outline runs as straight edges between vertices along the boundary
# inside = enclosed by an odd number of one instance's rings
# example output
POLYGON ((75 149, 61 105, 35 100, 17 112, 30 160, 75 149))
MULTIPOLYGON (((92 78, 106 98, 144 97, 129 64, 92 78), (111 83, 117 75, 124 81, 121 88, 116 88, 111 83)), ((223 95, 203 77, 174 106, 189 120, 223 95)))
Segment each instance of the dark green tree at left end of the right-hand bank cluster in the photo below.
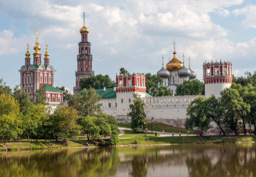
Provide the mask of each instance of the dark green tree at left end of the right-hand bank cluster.
POLYGON ((210 128, 210 119, 207 117, 205 108, 205 99, 201 96, 194 99, 187 108, 189 118, 185 120, 185 128, 199 128, 199 130, 208 130, 210 128))

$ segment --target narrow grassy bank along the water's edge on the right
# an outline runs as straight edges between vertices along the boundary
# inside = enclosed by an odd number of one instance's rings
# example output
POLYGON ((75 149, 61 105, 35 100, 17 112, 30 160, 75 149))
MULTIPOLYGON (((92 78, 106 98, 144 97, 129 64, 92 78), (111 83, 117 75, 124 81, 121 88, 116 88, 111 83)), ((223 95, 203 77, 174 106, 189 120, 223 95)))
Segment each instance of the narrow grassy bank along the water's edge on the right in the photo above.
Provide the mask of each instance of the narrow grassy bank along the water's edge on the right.
MULTIPOLYGON (((183 137, 140 137, 120 139, 117 145, 133 144, 135 140, 138 144, 183 144, 183 137)), ((184 137, 185 144, 235 142, 256 142, 256 137, 184 137)))

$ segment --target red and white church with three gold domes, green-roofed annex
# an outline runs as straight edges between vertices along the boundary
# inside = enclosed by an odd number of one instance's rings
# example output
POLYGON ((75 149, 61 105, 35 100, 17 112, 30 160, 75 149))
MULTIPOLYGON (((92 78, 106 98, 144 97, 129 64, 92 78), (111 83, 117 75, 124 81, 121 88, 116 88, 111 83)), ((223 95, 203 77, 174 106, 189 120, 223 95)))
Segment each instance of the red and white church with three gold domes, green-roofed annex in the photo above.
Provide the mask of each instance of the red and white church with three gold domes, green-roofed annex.
MULTIPOLYGON (((49 53, 47 51, 48 45, 46 44, 46 53, 44 54, 44 65, 41 62, 42 53, 39 52, 41 47, 37 41, 35 42, 35 52, 33 53, 33 64, 30 64, 30 53, 27 51, 25 58, 25 65, 21 67, 21 89, 24 92, 28 92, 30 99, 36 101, 36 93, 39 88, 43 88, 46 91, 46 101, 48 103, 59 104, 63 102, 62 90, 54 87, 54 72, 55 69, 50 65, 49 53)), ((29 45, 27 45, 29 47, 29 45)))

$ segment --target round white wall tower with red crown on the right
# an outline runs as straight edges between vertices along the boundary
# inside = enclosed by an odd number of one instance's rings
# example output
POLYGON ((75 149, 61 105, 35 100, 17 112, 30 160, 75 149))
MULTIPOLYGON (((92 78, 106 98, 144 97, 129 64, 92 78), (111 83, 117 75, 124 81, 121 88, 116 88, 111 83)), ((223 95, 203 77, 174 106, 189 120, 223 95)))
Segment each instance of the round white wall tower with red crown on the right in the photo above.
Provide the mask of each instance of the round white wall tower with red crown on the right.
POLYGON ((203 62, 205 97, 221 96, 221 91, 232 85, 231 62, 203 62))

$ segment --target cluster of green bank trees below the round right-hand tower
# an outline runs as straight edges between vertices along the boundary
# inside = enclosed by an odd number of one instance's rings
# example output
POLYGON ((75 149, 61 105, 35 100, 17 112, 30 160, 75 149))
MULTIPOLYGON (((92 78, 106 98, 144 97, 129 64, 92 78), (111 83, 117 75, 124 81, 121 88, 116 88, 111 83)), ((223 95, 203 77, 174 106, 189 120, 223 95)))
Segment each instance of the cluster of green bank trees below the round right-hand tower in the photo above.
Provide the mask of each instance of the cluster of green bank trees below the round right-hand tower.
POLYGON ((186 128, 208 130, 213 121, 226 135, 226 130, 231 130, 235 135, 251 132, 254 127, 256 135, 256 72, 248 74, 248 79, 237 78, 230 88, 221 92, 220 98, 198 97, 188 106, 188 119, 185 121, 186 128), (242 83, 243 85, 241 85, 242 83))

